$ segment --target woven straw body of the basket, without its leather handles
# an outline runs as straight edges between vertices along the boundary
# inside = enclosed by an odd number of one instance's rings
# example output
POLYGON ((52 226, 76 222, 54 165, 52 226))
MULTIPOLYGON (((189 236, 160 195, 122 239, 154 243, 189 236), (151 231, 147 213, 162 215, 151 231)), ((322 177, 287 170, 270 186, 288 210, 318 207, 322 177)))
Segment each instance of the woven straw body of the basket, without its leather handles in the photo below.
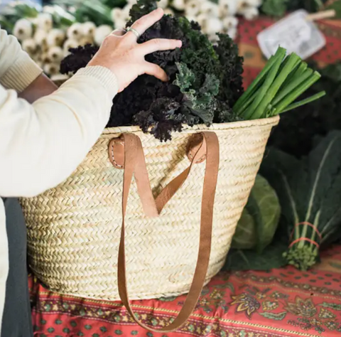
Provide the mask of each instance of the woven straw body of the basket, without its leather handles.
MULTIPOLYGON (((232 235, 278 117, 185 127, 161 143, 137 127, 105 129, 72 176, 40 196, 21 199, 28 226, 29 262, 51 290, 94 299, 119 299, 117 252, 124 171, 108 159, 108 144, 124 133, 141 139, 153 193, 188 167, 191 135, 215 132, 220 167, 215 196, 208 282, 224 264, 232 235)), ((126 212, 126 269, 131 299, 188 292, 200 232, 205 164, 195 164, 159 218, 147 218, 133 181, 126 212)))

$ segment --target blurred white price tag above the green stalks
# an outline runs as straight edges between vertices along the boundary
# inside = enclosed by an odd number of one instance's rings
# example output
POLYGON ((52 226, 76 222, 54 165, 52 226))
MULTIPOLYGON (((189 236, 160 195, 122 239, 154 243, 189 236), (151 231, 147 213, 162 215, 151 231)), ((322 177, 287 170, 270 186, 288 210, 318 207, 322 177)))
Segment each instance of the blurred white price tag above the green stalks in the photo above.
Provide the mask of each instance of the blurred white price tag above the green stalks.
POLYGON ((303 9, 295 11, 258 34, 257 40, 266 58, 281 46, 304 60, 325 46, 323 33, 307 16, 308 12, 303 9))

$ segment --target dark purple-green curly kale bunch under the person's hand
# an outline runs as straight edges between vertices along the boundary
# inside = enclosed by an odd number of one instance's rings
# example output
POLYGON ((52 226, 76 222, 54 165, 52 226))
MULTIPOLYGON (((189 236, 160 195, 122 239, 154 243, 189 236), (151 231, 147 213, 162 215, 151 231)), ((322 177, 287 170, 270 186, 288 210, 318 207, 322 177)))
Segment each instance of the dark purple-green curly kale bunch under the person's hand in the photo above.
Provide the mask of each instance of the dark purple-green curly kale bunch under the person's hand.
MULTIPOLYGON (((156 2, 139 0, 132 6, 134 21, 156 9, 156 2)), ((163 16, 139 38, 139 43, 153 38, 183 41, 176 50, 158 51, 146 56, 148 62, 163 68, 170 80, 161 82, 149 75, 139 76, 114 97, 107 127, 138 125, 157 139, 171 139, 183 124, 232 122, 238 117, 232 107, 243 93, 243 59, 229 36, 220 34, 212 46, 200 26, 184 17, 163 16)), ((75 73, 85 67, 96 53, 94 46, 71 49, 61 63, 61 73, 75 73)))

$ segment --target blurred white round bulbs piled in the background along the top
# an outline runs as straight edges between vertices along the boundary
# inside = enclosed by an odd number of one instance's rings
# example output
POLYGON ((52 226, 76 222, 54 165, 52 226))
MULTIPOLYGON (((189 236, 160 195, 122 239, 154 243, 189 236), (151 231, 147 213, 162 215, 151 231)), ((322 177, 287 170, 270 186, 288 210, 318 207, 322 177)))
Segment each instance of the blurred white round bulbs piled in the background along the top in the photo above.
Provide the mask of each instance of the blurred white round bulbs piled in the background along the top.
MULTIPOLYGON (((253 19, 262 0, 161 0, 165 14, 186 16, 200 24, 210 41, 216 33, 237 36, 237 16, 253 19)), ((136 0, 54 0, 42 11, 17 4, 0 14, 1 28, 21 41, 23 49, 47 75, 60 78, 60 60, 70 48, 100 46, 114 28, 126 26, 129 9, 136 0), (9 21, 11 23, 9 24, 9 21)), ((66 76, 64 76, 66 77, 66 76)))

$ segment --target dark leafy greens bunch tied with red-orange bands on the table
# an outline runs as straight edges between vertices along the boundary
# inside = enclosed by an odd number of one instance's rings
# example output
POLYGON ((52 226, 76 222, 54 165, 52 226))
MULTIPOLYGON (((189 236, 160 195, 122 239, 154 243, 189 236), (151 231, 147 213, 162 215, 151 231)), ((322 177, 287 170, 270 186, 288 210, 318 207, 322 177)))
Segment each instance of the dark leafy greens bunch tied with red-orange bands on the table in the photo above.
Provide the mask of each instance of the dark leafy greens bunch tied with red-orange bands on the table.
POLYGON ((341 132, 330 132, 301 160, 271 149, 261 174, 275 189, 286 228, 288 264, 307 270, 320 247, 341 237, 341 132))

